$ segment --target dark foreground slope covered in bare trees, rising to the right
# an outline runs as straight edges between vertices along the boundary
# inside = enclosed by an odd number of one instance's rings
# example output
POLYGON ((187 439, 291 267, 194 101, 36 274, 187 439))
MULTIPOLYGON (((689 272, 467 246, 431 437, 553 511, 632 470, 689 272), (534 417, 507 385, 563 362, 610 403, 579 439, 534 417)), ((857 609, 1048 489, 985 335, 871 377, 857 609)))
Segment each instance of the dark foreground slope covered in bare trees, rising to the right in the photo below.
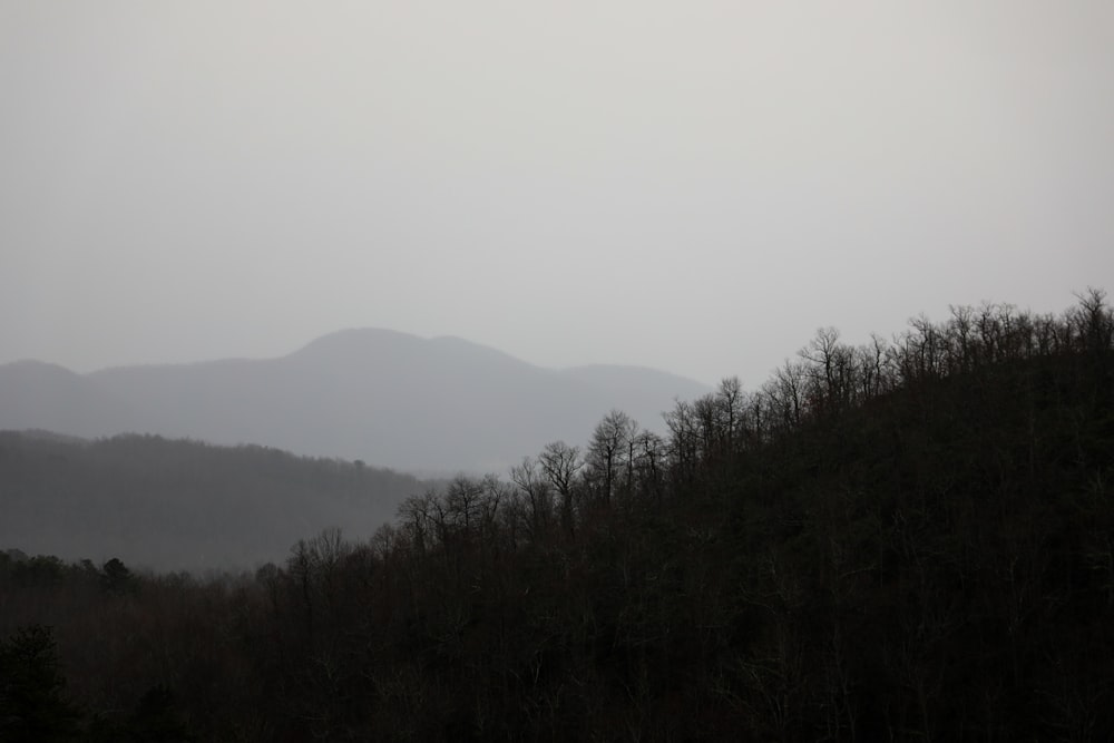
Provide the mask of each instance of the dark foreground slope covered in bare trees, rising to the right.
POLYGON ((666 421, 254 575, 0 557, 0 740, 1114 739, 1102 292, 821 330, 666 421))

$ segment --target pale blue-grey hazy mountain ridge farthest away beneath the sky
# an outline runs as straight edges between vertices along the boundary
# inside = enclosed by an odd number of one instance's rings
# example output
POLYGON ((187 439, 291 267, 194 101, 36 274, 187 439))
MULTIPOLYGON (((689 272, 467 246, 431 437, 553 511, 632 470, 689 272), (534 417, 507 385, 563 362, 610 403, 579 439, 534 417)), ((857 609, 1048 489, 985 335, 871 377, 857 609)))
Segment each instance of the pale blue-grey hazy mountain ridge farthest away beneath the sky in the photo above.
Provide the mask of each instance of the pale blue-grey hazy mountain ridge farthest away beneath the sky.
POLYGON ((380 329, 276 359, 117 366, 0 365, 0 429, 255 443, 404 470, 502 471, 555 439, 582 442, 610 409, 661 431, 674 399, 709 391, 638 366, 545 369, 453 336, 380 329))

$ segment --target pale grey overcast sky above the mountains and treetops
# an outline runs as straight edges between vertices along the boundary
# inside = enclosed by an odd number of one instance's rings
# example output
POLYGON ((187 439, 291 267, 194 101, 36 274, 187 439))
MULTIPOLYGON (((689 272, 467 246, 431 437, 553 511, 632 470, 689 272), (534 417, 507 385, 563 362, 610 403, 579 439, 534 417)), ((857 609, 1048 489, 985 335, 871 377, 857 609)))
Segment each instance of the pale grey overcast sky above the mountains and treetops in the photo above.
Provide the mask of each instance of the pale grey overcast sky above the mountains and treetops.
POLYGON ((1114 292, 1114 2, 0 0, 0 362, 351 326, 747 385, 1114 292))

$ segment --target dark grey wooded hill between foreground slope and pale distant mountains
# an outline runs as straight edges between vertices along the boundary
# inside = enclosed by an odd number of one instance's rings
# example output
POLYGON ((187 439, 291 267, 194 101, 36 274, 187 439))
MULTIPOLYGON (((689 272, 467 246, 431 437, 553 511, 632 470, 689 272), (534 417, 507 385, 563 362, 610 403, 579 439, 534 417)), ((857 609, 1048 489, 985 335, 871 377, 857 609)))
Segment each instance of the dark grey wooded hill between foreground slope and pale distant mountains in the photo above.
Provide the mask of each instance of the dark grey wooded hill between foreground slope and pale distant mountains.
POLYGON ((424 487, 263 447, 0 431, 0 550, 159 570, 253 568, 330 526, 370 535, 424 487))

